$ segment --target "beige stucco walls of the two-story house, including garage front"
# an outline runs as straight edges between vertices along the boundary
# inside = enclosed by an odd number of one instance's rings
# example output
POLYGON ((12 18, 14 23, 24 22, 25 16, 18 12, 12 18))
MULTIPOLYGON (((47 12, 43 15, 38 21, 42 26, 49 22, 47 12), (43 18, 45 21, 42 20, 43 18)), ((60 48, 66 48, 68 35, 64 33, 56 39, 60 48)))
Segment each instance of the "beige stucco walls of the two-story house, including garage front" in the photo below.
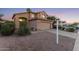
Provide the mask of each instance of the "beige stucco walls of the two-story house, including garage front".
POLYGON ((33 15, 33 13, 30 13, 30 15, 28 13, 22 13, 22 14, 17 14, 14 17, 14 21, 15 21, 15 27, 19 28, 19 17, 25 17, 28 20, 28 24, 29 27, 34 27, 37 30, 46 30, 46 29, 50 29, 50 22, 48 21, 41 21, 40 19, 46 20, 47 16, 45 15, 44 18, 41 17, 41 15, 44 15, 43 13, 39 13, 39 14, 35 14, 34 16, 37 18, 37 20, 32 20, 29 21, 29 17, 30 19, 33 19, 33 17, 31 17, 31 15, 33 15))

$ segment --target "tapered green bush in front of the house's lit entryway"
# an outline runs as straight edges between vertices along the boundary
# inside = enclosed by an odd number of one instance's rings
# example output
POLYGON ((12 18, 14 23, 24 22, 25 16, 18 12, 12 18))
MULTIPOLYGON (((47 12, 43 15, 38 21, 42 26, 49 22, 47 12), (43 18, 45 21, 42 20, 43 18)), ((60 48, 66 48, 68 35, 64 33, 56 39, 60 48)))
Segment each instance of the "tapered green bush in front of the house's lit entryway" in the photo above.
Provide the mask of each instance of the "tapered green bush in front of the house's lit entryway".
POLYGON ((27 26, 26 22, 20 22, 20 27, 18 29, 17 34, 21 35, 21 36, 30 35, 31 34, 30 29, 27 26))

